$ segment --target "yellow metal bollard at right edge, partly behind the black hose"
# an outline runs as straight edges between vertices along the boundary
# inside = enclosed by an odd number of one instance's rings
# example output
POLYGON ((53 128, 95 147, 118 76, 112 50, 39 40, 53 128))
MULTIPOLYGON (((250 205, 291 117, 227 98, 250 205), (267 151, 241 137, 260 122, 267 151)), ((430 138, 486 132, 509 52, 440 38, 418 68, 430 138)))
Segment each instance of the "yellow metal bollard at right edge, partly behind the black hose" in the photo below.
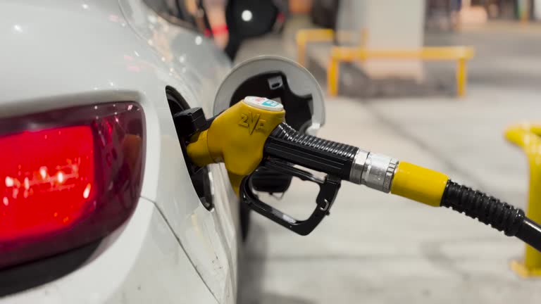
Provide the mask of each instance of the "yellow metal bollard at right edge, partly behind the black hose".
MULTIPOLYGON (((530 165, 530 188, 526 216, 541 221, 541 125, 515 125, 505 131, 505 137, 520 146, 530 165)), ((541 253, 526 246, 524 260, 511 262, 511 269, 521 277, 541 277, 541 253)))

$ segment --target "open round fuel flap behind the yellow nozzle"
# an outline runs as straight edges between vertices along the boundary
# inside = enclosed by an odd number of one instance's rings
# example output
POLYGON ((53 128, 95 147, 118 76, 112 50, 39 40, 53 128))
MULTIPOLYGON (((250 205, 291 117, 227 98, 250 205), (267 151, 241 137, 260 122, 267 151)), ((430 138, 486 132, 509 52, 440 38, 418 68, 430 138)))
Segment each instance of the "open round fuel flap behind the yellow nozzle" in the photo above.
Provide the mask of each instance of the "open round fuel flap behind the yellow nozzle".
MULTIPOLYGON (((321 87, 308 70, 290 59, 259 56, 236 65, 218 89, 213 115, 246 96, 261 96, 282 103, 286 122, 299 132, 316 135, 325 123, 321 87)), ((283 193, 290 186, 291 176, 263 167, 251 181, 256 191, 283 193)))

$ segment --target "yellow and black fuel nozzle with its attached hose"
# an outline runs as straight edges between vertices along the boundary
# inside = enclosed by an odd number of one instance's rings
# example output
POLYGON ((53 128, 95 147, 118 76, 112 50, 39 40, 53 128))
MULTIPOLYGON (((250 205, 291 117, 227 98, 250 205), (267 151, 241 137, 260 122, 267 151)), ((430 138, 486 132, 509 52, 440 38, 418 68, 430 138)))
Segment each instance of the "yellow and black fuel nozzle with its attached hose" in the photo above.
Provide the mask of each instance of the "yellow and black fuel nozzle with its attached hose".
POLYGON ((517 236, 541 251, 541 226, 526 217, 523 210, 452 182, 440 172, 301 134, 287 125, 284 118, 280 103, 246 97, 218 115, 210 126, 206 124, 207 129, 192 135, 187 156, 199 167, 225 163, 231 185, 241 199, 253 210, 299 234, 309 234, 328 215, 341 180, 347 180, 427 205, 452 208, 507 236, 517 236), (294 220, 251 195, 244 177, 259 167, 263 157, 263 165, 320 185, 316 210, 308 220, 294 220), (327 177, 317 179, 291 164, 318 170, 327 177))

